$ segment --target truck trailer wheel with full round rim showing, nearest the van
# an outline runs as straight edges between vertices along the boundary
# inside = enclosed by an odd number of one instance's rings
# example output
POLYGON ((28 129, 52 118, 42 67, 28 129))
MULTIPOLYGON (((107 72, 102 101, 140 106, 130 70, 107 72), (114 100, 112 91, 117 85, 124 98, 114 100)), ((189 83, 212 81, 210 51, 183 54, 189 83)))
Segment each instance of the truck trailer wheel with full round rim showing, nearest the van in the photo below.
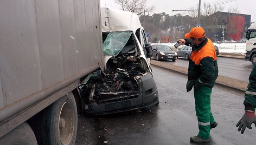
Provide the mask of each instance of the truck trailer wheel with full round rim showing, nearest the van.
POLYGON ((75 144, 78 113, 72 93, 51 104, 36 124, 39 144, 75 144))

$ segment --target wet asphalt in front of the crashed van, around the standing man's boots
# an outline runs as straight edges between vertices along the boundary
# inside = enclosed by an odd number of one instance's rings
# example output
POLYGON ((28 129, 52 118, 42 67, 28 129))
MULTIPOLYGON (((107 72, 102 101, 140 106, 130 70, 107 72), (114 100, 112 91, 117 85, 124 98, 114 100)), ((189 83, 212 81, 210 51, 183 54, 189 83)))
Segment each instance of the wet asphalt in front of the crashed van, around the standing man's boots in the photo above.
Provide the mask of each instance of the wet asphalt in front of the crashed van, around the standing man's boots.
MULTIPOLYGON (((113 115, 78 120, 76 144, 196 144, 197 135, 193 91, 186 93, 187 76, 153 67, 159 106, 113 115), (105 143, 104 143, 105 141, 105 143)), ((215 85, 212 112, 219 123, 211 130, 211 141, 201 144, 255 144, 256 128, 241 135, 235 124, 244 114, 241 91, 215 85)))

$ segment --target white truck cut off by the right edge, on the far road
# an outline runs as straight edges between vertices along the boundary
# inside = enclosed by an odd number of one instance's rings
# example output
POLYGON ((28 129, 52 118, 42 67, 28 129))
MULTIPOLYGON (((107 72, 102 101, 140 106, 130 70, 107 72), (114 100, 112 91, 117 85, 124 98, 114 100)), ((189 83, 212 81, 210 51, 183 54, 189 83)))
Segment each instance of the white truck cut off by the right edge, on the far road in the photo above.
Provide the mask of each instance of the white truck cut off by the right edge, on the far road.
POLYGON ((245 60, 256 64, 256 22, 252 23, 246 32, 245 60))

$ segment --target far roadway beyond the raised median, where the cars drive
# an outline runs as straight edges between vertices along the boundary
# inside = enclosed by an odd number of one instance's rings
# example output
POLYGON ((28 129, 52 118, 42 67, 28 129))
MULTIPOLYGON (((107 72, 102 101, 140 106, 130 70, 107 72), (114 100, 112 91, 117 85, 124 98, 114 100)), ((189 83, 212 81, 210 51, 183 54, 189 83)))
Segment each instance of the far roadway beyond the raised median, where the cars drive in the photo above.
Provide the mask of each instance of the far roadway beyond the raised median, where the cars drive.
MULTIPOLYGON (((172 62, 171 60, 166 60, 162 62, 188 68, 188 61, 184 58, 178 58, 175 62, 172 62)), ((220 76, 230 77, 236 80, 249 82, 249 74, 253 69, 253 65, 251 62, 238 58, 217 57, 217 63, 219 67, 220 76)))

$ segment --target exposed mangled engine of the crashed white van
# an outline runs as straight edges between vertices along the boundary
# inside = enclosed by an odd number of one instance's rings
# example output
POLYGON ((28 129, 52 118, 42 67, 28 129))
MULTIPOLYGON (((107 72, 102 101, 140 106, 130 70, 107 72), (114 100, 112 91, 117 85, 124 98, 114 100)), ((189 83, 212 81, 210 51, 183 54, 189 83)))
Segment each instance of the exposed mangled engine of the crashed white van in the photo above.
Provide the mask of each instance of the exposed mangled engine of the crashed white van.
MULTIPOLYGON (((138 95, 141 76, 147 71, 142 67, 139 53, 131 36, 117 56, 106 63, 106 69, 89 74, 80 87, 80 93, 86 104, 106 102, 117 98, 138 95)), ((109 50, 113 51, 113 50, 109 50)))

